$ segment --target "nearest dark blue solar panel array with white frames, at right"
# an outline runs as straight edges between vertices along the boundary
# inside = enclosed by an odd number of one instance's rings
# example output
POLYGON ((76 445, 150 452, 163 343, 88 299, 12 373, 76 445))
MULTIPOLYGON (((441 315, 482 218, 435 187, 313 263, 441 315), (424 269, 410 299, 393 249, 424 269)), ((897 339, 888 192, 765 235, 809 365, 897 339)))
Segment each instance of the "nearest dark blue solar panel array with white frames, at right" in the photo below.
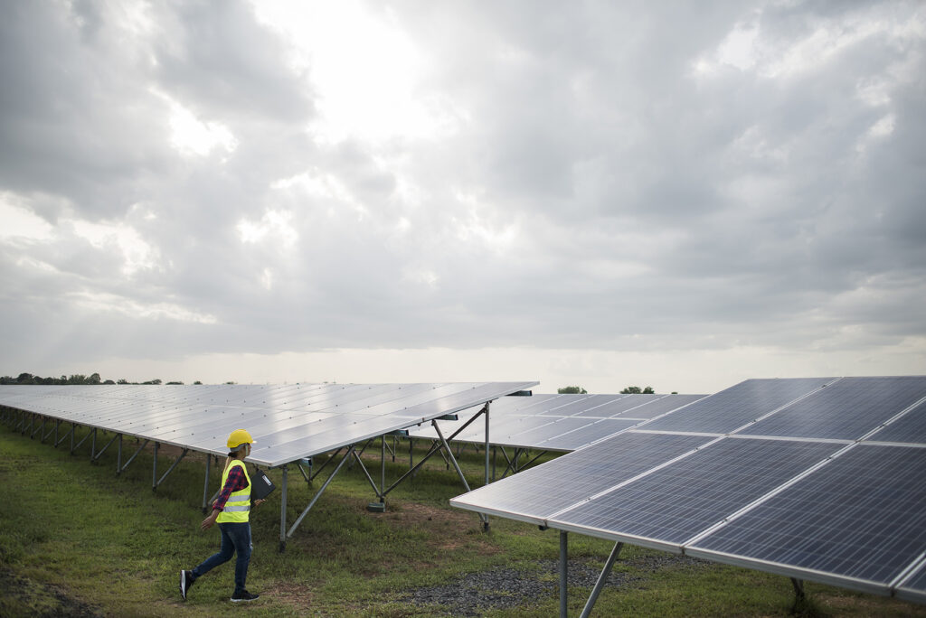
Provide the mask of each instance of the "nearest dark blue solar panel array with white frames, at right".
POLYGON ((451 503, 926 602, 926 377, 747 380, 451 503))

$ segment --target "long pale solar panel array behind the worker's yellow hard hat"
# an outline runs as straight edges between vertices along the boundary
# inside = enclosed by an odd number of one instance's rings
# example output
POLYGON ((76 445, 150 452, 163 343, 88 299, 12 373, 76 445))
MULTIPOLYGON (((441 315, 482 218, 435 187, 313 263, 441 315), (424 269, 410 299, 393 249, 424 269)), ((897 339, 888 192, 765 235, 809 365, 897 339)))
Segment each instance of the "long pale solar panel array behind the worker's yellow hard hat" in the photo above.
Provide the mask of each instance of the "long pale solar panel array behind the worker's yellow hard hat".
POLYGON ((536 382, 294 385, 0 385, 0 404, 81 426, 224 454, 232 430, 248 461, 288 464, 492 401, 536 382))

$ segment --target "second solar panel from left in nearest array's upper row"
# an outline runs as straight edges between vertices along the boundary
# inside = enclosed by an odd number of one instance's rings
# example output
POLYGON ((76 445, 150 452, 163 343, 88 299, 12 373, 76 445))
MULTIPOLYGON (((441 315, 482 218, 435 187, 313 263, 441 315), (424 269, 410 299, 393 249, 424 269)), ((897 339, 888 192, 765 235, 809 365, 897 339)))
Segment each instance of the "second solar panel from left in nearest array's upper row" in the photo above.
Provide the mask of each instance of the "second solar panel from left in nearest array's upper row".
POLYGON ((742 433, 859 439, 924 397, 926 377, 844 377, 742 433))

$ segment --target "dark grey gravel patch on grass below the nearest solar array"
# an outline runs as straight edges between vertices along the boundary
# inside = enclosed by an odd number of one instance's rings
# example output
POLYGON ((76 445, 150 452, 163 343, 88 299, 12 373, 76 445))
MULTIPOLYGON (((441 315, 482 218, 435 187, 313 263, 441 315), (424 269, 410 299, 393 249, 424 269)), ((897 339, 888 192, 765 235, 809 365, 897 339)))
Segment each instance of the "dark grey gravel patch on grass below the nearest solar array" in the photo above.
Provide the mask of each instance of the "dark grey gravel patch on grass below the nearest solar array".
MULTIPOLYGON (((608 587, 620 587, 645 579, 639 571, 655 572, 666 566, 694 567, 704 563, 687 556, 672 554, 646 555, 632 561, 622 562, 632 566, 637 573, 612 570, 607 578, 608 587)), ((569 587, 594 587, 601 575, 599 562, 591 560, 569 561, 569 587)), ((519 607, 544 597, 559 594, 559 561, 536 562, 536 570, 518 570, 497 567, 480 573, 469 573, 456 580, 434 587, 420 587, 407 590, 404 600, 417 606, 437 606, 447 615, 479 616, 489 610, 504 610, 519 607)))

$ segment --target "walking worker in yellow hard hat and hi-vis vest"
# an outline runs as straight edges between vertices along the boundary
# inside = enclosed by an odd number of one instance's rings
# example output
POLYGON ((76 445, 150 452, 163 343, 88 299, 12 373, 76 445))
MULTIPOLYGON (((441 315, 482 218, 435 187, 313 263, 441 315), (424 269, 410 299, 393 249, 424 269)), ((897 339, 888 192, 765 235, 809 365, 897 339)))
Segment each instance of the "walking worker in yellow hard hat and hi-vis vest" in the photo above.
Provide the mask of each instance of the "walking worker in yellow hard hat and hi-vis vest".
MULTIPOLYGON (((247 475, 244 458, 251 454, 254 439, 244 429, 235 429, 229 435, 228 459, 222 472, 222 489, 219 498, 212 503, 212 513, 203 520, 200 527, 208 530, 213 524, 219 524, 221 531, 221 548, 192 571, 180 572, 180 594, 183 600, 190 587, 201 576, 232 560, 237 551, 238 559, 234 567, 234 593, 232 602, 251 601, 260 595, 251 594, 244 587, 247 578, 247 565, 251 562, 251 524, 248 514, 251 512, 251 477, 247 475)), ((254 506, 263 502, 254 501, 254 506)))

